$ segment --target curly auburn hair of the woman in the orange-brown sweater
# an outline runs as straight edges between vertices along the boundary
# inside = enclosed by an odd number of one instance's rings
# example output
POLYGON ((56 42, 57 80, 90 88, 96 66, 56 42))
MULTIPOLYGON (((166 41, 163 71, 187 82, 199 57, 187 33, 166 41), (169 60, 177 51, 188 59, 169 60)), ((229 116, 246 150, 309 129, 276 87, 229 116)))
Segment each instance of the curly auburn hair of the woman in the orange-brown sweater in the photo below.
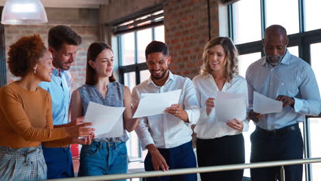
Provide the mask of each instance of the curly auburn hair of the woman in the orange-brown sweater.
POLYGON ((10 72, 16 77, 27 75, 34 70, 34 66, 45 50, 43 40, 38 34, 19 38, 16 43, 10 45, 8 52, 10 72))

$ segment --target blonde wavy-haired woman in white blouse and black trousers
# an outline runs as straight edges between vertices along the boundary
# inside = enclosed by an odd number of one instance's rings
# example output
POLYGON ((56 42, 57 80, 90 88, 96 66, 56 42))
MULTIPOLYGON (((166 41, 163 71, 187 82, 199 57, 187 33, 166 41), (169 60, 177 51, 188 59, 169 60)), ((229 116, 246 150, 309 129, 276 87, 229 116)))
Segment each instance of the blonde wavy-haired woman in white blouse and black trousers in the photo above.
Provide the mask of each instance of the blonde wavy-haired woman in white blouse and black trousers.
MULTIPOLYGON (((202 108, 195 127, 199 167, 245 162, 242 132, 248 129, 248 121, 235 118, 225 123, 217 120, 215 114, 215 98, 219 92, 243 94, 247 101, 248 87, 246 80, 238 75, 237 56, 230 38, 213 38, 204 47, 201 74, 193 78, 202 108)), ((243 170, 200 173, 200 176, 202 181, 241 181, 243 170)))

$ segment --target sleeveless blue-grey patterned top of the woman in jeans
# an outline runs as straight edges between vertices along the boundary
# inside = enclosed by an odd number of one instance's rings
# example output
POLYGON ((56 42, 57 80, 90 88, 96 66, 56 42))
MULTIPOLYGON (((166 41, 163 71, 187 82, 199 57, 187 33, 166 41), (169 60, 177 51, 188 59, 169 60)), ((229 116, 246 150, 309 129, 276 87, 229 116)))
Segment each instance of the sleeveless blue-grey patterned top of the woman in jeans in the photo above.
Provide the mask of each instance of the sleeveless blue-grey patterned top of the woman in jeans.
MULTIPOLYGON (((82 112, 86 114, 89 101, 95 102, 97 104, 102 104, 105 106, 112 107, 123 107, 123 85, 119 82, 110 82, 107 85, 107 94, 104 98, 97 86, 84 84, 78 91, 80 93, 80 99, 82 100, 82 112)), ((123 129, 123 136, 116 138, 94 138, 93 141, 102 141, 102 142, 113 142, 118 143, 121 141, 128 141, 128 135, 126 130, 123 129)))

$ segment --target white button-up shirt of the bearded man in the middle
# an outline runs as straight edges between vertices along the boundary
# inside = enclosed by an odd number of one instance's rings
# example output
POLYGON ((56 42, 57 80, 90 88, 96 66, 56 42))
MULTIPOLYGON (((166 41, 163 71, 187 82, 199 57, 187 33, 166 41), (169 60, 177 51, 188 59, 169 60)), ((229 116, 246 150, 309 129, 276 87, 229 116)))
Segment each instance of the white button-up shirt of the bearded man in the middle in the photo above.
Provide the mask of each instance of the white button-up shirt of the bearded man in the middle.
MULTIPOLYGON (((166 93, 182 89, 179 103, 187 112, 189 123, 167 112, 139 119, 136 133, 141 138, 142 147, 154 144, 158 148, 172 148, 191 141, 191 124, 200 117, 200 108, 196 99, 193 82, 187 77, 181 77, 169 72, 169 77, 163 86, 156 86, 150 77, 132 90, 132 104, 139 103, 142 93, 166 93)), ((152 103, 157 104, 157 103, 152 103)))

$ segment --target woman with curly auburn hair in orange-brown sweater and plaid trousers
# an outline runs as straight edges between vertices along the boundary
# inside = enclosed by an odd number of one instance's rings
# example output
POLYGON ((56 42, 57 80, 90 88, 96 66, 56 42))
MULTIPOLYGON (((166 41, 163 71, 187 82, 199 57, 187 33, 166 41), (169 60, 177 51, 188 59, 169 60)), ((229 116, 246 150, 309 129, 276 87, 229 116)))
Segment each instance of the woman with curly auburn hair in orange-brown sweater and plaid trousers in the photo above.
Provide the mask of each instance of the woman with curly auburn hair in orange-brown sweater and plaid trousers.
POLYGON ((38 86, 51 81, 52 56, 39 35, 20 38, 8 55, 10 72, 21 79, 0 88, 0 180, 47 179, 41 142, 70 142, 91 136, 93 128, 53 129, 51 97, 38 86))

